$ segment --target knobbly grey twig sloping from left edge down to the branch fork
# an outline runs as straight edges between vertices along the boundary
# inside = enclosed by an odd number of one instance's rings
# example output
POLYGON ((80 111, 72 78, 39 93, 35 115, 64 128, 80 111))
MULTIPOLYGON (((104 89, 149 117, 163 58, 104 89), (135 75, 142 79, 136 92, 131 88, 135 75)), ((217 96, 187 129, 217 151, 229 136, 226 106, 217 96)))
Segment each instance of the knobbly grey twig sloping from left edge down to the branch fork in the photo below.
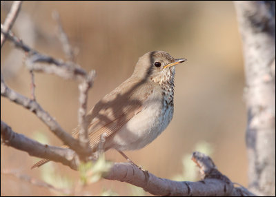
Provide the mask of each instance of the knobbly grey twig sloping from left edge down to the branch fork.
POLYGON ((6 98, 9 98, 10 101, 13 101, 14 103, 17 103, 26 109, 30 110, 34 114, 37 115, 37 117, 45 123, 49 129, 58 136, 63 143, 71 147, 72 149, 75 149, 76 151, 79 151, 79 143, 78 141, 70 136, 70 134, 66 133, 59 123, 55 121, 48 112, 43 110, 43 108, 34 100, 31 100, 30 98, 27 98, 26 96, 23 96, 14 90, 10 89, 6 85, 6 83, 3 81, 3 76, 1 75, 1 96, 5 96, 6 98))

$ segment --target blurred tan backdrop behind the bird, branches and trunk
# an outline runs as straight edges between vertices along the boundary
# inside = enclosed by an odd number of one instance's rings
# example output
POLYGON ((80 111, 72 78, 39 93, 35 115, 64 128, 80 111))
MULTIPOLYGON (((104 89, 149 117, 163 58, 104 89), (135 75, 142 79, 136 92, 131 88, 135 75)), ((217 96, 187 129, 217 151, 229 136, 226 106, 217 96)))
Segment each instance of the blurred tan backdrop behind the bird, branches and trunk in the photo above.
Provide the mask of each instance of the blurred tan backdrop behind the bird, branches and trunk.
MULTIPOLYGON (((1 1, 1 23, 10 6, 11 2, 1 1)), ((176 69, 175 113, 170 125, 147 147, 125 152, 128 157, 155 176, 171 179, 184 173, 185 156, 190 158, 203 144, 213 150, 210 154, 223 174, 247 186, 244 65, 231 1, 23 2, 12 32, 39 52, 65 59, 57 22, 52 19, 54 10, 60 14, 71 45, 79 52, 77 63, 87 71, 97 71, 89 93, 89 109, 126 80, 139 56, 146 52, 164 50, 176 59, 188 59, 176 69)), ((6 41, 1 49, 1 71, 7 85, 30 97, 31 78, 24 67, 24 56, 6 41)), ((37 101, 70 133, 77 126, 77 82, 41 73, 35 73, 34 79, 37 101)), ((61 145, 34 114, 2 97, 1 120, 15 132, 61 145)), ((113 150, 106 152, 106 159, 126 161, 113 150)), ((78 172, 57 163, 30 170, 37 160, 1 145, 1 170, 15 169, 43 180, 46 175, 59 174, 70 184, 78 180, 78 172)), ((189 162, 194 166, 192 160, 189 162)), ((124 196, 138 194, 127 183, 111 180, 100 180, 83 192, 99 195, 109 190, 124 196)), ((1 195, 57 193, 1 174, 1 195)))

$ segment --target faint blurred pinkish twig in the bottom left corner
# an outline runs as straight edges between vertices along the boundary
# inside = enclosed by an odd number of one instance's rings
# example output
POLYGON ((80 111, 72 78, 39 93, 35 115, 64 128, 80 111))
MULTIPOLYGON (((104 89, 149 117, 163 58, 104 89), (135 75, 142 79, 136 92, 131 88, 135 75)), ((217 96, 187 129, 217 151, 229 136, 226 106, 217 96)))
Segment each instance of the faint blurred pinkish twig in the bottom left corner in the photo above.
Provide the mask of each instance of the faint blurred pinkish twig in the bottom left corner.
POLYGON ((21 180, 27 181, 28 183, 32 184, 32 185, 36 185, 39 187, 44 187, 46 189, 50 189, 53 191, 58 191, 61 194, 66 194, 66 195, 72 195, 72 191, 70 189, 61 189, 61 188, 57 188, 53 185, 50 185, 42 180, 38 180, 36 178, 32 178, 26 174, 21 174, 19 172, 16 172, 15 170, 11 170, 11 169, 3 169, 1 171, 1 174, 3 175, 10 175, 10 176, 15 176, 21 180))

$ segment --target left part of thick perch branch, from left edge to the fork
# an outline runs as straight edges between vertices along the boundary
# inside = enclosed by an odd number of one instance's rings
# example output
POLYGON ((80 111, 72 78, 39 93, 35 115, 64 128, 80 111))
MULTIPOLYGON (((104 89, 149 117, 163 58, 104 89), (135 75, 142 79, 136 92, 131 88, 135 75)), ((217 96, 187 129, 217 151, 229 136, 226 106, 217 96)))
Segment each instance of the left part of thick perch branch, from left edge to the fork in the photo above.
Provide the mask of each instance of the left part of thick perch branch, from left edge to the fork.
POLYGON ((77 165, 79 165, 79 160, 72 149, 42 145, 37 141, 12 131, 3 121, 1 121, 1 140, 4 145, 27 152, 30 156, 55 160, 68 165, 72 169, 77 169, 77 165))

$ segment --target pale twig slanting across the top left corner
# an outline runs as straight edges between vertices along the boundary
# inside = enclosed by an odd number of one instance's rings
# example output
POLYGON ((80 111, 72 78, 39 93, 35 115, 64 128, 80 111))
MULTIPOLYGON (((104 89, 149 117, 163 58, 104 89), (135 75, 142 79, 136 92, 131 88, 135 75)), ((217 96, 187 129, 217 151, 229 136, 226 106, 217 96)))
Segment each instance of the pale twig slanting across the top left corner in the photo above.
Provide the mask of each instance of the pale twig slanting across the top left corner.
MULTIPOLYGON (((3 31, 8 32, 12 29, 12 25, 14 24, 15 19, 17 19, 17 15, 21 8, 23 1, 14 1, 12 3, 12 8, 10 8, 10 12, 8 13, 5 22, 3 23, 3 31)), ((2 27, 1 27, 2 29, 2 27)), ((6 35, 1 32, 1 48, 6 41, 6 35)))

